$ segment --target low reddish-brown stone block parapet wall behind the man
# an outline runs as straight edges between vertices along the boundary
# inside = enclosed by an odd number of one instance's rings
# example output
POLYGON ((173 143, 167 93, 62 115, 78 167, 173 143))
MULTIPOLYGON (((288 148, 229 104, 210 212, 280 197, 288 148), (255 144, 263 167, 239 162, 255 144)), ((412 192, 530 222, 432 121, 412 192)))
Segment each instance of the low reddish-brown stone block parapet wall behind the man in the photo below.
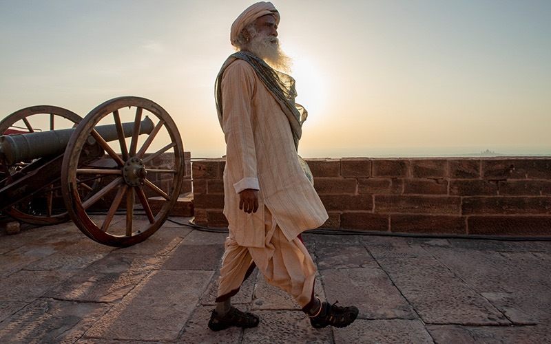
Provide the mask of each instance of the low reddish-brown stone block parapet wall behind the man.
MULTIPOLYGON (((307 159, 322 226, 394 233, 551 235, 551 158, 307 159)), ((225 160, 193 162, 195 222, 225 228, 225 160)))

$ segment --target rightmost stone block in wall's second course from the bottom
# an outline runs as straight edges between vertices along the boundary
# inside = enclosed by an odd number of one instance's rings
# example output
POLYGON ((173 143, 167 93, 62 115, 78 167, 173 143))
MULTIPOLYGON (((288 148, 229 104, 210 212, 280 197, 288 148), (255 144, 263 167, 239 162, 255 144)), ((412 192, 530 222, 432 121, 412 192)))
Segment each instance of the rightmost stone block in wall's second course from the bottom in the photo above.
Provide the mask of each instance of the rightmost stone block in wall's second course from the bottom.
POLYGON ((464 197, 463 215, 492 214, 551 214, 551 197, 464 197))

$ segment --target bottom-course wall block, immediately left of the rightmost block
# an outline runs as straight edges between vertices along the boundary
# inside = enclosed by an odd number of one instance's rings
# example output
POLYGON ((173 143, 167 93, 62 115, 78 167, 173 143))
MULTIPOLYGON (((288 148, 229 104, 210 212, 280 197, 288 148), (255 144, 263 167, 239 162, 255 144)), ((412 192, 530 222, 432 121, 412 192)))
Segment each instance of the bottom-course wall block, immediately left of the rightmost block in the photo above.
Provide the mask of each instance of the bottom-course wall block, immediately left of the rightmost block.
POLYGON ((391 232, 466 234, 466 219, 459 215, 391 215, 391 232))

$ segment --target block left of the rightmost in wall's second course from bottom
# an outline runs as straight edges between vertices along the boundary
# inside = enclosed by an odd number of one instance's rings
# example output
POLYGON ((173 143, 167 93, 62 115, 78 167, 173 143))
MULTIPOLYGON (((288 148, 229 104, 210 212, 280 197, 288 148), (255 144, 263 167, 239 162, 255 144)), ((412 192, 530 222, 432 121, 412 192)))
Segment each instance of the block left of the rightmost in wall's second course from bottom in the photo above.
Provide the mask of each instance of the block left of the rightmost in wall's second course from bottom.
POLYGON ((455 214, 461 197, 439 195, 375 195, 375 213, 455 214))

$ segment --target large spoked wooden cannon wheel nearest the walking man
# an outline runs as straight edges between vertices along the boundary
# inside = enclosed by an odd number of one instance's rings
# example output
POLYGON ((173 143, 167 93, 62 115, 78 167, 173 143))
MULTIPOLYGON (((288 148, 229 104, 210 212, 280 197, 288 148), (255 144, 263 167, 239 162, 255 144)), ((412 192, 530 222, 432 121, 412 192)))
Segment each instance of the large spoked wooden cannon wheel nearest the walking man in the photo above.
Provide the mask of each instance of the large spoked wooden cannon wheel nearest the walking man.
POLYGON ((151 100, 128 96, 107 100, 76 127, 65 150, 61 184, 67 212, 85 235, 101 244, 130 246, 147 239, 165 222, 178 200, 183 176, 184 149, 172 118, 151 100), (152 117, 154 129, 140 136, 145 115, 152 117), (121 118, 132 118, 131 138, 125 138, 121 118), (98 125, 105 123, 114 123, 118 140, 107 143, 97 133, 98 125), (101 145, 106 158, 79 166, 79 156, 90 140, 101 145), (169 154, 174 159, 152 166, 169 154), (105 182, 92 197, 81 200, 77 181, 85 175, 105 182), (150 196, 165 200, 159 210, 149 205, 150 196), (104 206, 106 215, 99 216, 94 206, 105 200, 110 200, 104 206), (113 221, 116 213, 125 214, 125 221, 113 221))

